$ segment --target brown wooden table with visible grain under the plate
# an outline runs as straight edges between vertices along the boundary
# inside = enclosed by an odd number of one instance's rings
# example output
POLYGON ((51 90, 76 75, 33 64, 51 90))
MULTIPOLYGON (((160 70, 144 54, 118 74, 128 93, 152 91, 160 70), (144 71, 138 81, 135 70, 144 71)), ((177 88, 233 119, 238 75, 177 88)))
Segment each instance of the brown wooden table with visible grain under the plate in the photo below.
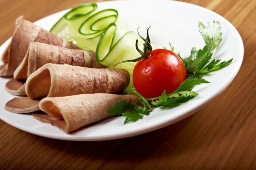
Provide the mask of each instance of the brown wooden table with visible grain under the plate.
MULTIPOLYGON (((0 0, 0 44, 16 17, 35 21, 89 0, 0 0)), ((144 135, 100 142, 35 136, 0 120, 0 169, 256 169, 256 0, 184 0, 229 20, 244 43, 227 89, 187 119, 144 135)))

